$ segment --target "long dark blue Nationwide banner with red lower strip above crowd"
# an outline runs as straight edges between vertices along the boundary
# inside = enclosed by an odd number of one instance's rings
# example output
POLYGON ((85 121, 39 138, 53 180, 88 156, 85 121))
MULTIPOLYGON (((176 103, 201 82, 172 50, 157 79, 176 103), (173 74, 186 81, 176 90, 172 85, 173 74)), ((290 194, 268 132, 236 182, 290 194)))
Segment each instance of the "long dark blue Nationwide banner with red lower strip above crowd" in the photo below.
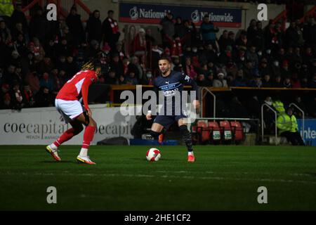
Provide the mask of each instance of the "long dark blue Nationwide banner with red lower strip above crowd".
POLYGON ((209 13, 211 22, 218 27, 242 26, 242 10, 240 8, 213 8, 200 6, 173 6, 154 4, 119 4, 119 22, 159 24, 168 11, 173 19, 180 16, 183 20, 192 20, 200 25, 204 15, 209 13))

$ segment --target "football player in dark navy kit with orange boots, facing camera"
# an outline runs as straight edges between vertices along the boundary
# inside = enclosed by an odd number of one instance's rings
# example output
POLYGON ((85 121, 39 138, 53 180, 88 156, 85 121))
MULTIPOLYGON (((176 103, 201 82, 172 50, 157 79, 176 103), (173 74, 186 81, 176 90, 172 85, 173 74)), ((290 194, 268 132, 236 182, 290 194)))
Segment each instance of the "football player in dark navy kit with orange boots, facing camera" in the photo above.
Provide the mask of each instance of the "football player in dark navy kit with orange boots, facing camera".
MULTIPOLYGON (((187 116, 184 110, 182 110, 183 104, 176 101, 176 94, 183 94, 183 86, 192 86, 193 91, 196 91, 196 98, 192 101, 193 108, 199 110, 199 100, 197 99, 198 86, 193 79, 185 75, 183 72, 176 72, 171 70, 171 60, 169 58, 159 59, 159 70, 161 75, 154 79, 154 91, 156 94, 162 93, 164 98, 164 112, 159 112, 154 119, 150 134, 154 139, 158 139, 162 134, 163 129, 168 129, 173 122, 177 122, 180 134, 187 146, 187 162, 195 162, 195 155, 192 148, 192 136, 187 129, 187 116), (174 98, 173 98, 174 97, 174 98), (179 110, 180 108, 180 110, 179 110), (169 112, 166 113, 166 111, 169 112)), ((160 96, 159 96, 160 97, 160 96)), ((182 98, 180 98, 182 99, 182 98)), ((152 120, 152 111, 149 110, 146 115, 147 120, 152 120)))

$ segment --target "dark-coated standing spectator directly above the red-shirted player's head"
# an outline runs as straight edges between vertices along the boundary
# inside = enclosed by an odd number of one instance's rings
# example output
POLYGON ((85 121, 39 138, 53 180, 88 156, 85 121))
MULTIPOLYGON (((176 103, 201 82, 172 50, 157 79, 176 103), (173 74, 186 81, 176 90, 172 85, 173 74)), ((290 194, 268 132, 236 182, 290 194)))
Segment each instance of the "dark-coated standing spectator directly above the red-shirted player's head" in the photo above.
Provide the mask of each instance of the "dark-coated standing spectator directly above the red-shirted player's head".
POLYGON ((86 22, 86 34, 87 34, 87 41, 91 43, 92 40, 98 41, 101 43, 102 41, 102 23, 100 20, 100 11, 95 10, 89 16, 88 21, 86 22))

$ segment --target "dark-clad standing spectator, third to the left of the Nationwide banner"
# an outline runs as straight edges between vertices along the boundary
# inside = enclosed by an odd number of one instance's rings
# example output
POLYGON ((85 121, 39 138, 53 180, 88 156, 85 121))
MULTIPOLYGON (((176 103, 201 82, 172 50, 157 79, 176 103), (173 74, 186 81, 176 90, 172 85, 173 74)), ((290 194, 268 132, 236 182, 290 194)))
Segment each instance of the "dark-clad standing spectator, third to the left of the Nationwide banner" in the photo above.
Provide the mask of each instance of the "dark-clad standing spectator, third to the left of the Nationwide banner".
POLYGON ((77 7, 75 5, 70 8, 70 13, 66 18, 66 24, 72 34, 74 46, 79 46, 79 44, 86 42, 84 37, 84 27, 81 22, 81 15, 77 13, 77 7))

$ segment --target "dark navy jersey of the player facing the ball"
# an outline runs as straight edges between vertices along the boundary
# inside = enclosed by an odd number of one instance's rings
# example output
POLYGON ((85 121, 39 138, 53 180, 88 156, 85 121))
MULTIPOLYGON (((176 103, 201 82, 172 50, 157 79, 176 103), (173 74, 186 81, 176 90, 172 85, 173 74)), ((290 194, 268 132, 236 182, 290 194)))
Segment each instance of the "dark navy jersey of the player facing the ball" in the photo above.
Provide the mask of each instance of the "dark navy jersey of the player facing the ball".
MULTIPOLYGON (((160 75, 154 79, 154 91, 157 96, 159 95, 159 98, 164 98, 164 113, 167 113, 167 111, 171 112, 172 110, 172 115, 174 115, 174 113, 177 112, 176 108, 179 107, 182 112, 184 105, 182 105, 181 102, 183 86, 185 85, 192 86, 192 90, 196 93, 195 98, 197 99, 199 96, 197 83, 183 72, 171 71, 171 74, 167 77, 160 75)), ((160 103, 162 103, 162 100, 160 103)), ((170 114, 168 113, 168 115, 170 114)))

